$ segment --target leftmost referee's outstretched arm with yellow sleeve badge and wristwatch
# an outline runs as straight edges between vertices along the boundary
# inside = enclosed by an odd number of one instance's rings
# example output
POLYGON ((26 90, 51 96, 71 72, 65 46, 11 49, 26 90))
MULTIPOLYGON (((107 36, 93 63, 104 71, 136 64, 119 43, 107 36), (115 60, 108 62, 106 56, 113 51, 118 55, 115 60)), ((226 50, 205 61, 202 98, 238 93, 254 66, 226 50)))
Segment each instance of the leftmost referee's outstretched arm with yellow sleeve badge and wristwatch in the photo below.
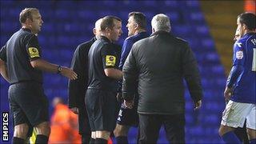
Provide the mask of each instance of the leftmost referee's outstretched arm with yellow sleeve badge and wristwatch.
POLYGON ((26 51, 30 58, 30 64, 35 69, 50 73, 59 73, 70 79, 76 79, 78 77, 73 70, 70 70, 67 67, 58 66, 43 60, 40 55, 41 51, 38 44, 38 38, 34 34, 30 35, 30 38, 28 39, 26 51))

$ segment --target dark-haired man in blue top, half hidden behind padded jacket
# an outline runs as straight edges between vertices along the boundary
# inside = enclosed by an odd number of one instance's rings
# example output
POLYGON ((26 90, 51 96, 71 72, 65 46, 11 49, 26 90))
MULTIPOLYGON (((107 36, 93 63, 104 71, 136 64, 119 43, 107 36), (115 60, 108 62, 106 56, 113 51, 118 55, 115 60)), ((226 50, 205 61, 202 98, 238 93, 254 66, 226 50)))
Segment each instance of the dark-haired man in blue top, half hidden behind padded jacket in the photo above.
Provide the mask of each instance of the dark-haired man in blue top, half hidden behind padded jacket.
MULTIPOLYGON (((128 38, 126 38, 122 45, 119 70, 122 70, 122 66, 126 62, 126 58, 134 43, 149 36, 146 33, 146 16, 140 12, 131 12, 128 15, 128 23, 126 27, 128 29, 128 38)), ((120 83, 122 84, 122 82, 120 83)), ((121 88, 122 85, 120 86, 120 89, 121 88)), ((119 90, 118 97, 122 97, 121 90, 119 90)), ((134 107, 132 109, 126 108, 122 103, 118 113, 117 126, 114 130, 114 136, 116 137, 117 143, 128 143, 127 134, 130 126, 138 126, 137 105, 138 95, 134 99, 134 107)))

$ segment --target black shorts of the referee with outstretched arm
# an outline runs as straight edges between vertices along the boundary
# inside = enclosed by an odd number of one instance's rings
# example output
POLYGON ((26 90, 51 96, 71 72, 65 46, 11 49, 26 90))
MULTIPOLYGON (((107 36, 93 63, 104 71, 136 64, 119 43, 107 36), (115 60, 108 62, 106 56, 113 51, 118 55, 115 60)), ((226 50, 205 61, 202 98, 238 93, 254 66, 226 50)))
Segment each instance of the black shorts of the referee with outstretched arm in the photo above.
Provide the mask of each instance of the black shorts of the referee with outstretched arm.
POLYGON ((26 123, 37 126, 49 122, 48 99, 38 82, 19 82, 9 87, 10 110, 14 126, 26 123))

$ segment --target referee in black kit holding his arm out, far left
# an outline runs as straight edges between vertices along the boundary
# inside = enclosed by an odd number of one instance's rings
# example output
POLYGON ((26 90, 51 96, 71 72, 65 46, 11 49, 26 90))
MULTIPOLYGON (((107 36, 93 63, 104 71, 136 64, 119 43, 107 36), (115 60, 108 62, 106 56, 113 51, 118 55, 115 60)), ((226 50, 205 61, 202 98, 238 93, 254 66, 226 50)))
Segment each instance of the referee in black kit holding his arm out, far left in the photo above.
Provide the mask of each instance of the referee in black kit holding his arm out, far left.
POLYGON ((42 88, 42 71, 76 79, 67 67, 46 62, 36 36, 42 17, 38 9, 26 8, 20 13, 22 29, 18 30, 0 50, 0 73, 10 82, 10 110, 14 114, 13 143, 24 143, 29 129, 38 132, 35 143, 47 143, 50 135, 48 100, 42 88))

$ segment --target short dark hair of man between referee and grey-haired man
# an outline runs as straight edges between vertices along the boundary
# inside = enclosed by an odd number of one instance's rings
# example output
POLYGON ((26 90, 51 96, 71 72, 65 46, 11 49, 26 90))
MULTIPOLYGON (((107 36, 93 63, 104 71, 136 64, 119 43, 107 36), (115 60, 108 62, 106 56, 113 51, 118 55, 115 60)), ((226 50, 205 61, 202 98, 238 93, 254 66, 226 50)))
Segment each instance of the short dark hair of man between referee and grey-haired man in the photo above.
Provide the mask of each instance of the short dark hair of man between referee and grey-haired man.
POLYGON ((139 27, 141 27, 142 29, 146 29, 146 16, 145 14, 141 13, 141 12, 130 12, 128 15, 128 18, 130 18, 131 16, 134 17, 134 21, 138 24, 139 27))

